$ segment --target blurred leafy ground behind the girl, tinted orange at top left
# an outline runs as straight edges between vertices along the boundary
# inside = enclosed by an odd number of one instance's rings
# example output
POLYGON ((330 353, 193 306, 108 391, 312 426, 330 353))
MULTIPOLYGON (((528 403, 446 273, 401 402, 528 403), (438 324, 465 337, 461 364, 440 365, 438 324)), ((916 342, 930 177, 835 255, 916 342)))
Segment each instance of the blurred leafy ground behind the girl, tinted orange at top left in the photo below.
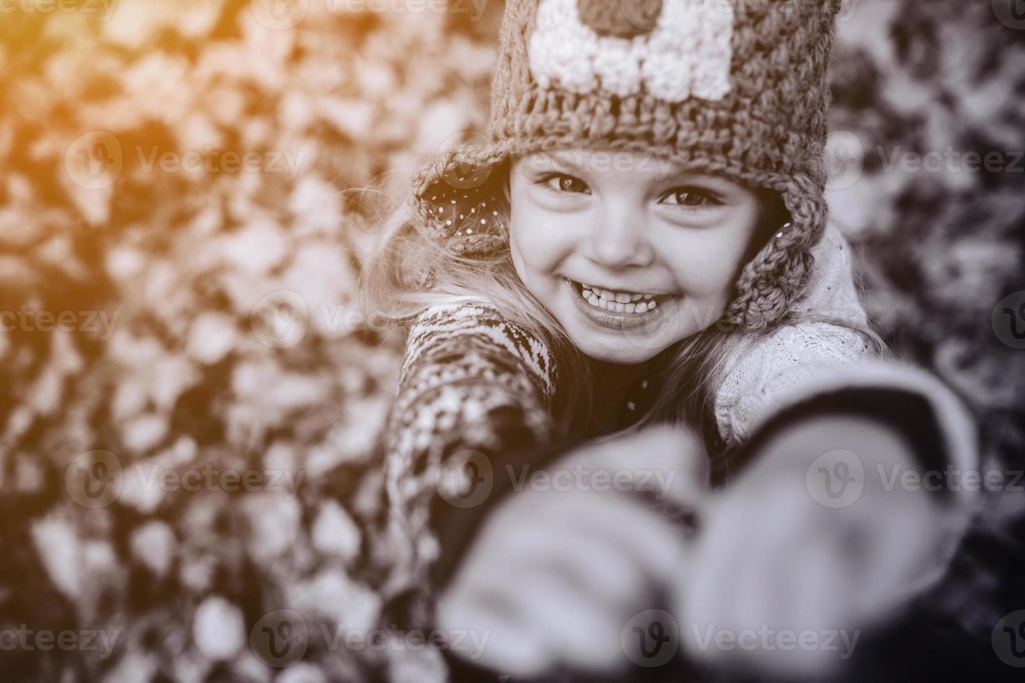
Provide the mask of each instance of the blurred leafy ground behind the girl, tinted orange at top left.
MULTIPOLYGON (((355 279, 416 165, 484 129, 501 2, 272 2, 3 5, 0 626, 119 631, 108 657, 0 654, 17 676, 444 678, 429 650, 316 642, 277 670, 249 635, 279 607, 387 623, 403 550, 372 455, 403 340, 360 316, 355 279), (122 476, 89 509, 66 472, 96 450, 122 476), (203 466, 302 479, 146 478, 203 466)), ((1025 350, 991 314, 1025 290, 1025 33, 999 19, 989 2, 846 3, 829 199, 887 339, 970 402, 987 467, 1020 469, 1025 350), (1006 168, 890 163, 947 150, 1006 168)), ((988 643, 1025 606, 1008 580, 1022 500, 986 494, 922 603, 959 637, 988 643)))

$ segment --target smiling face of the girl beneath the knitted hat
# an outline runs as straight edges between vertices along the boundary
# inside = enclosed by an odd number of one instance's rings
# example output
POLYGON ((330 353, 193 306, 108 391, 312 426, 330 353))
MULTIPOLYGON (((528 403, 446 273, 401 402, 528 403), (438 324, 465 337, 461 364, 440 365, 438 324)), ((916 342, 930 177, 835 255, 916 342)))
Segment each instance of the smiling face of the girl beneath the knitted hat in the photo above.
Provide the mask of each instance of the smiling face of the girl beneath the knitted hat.
POLYGON ((643 362, 719 319, 760 224, 751 189, 626 152, 517 160, 520 279, 599 360, 643 362))

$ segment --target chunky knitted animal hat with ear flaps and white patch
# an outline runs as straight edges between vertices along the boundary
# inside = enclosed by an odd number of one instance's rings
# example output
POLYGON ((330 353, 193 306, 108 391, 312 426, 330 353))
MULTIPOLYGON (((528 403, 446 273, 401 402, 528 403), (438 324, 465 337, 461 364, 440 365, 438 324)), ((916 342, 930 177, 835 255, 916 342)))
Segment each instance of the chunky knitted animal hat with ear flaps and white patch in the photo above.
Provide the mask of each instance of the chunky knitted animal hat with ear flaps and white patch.
POLYGON ((651 154, 775 189, 790 222, 743 267, 725 313, 767 327, 801 296, 825 228, 826 70, 840 1, 508 0, 489 141, 414 176, 415 220, 464 255, 496 249, 496 169, 561 147, 651 154))

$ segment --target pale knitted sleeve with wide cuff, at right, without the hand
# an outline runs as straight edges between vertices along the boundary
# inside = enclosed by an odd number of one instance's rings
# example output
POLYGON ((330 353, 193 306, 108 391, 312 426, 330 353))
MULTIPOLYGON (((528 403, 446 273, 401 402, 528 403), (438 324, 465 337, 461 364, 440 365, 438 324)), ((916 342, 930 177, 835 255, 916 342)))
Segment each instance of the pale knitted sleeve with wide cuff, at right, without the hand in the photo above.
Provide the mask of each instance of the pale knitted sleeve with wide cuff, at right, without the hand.
POLYGON ((858 300, 851 248, 835 227, 826 229, 813 255, 815 267, 795 322, 752 336, 726 364, 714 402, 726 443, 741 446, 797 404, 843 397, 847 390, 858 395, 873 391, 887 398, 863 401, 861 417, 889 421, 912 442, 943 444, 945 460, 935 456, 939 447, 925 449, 934 455, 924 467, 977 467, 972 420, 961 401, 930 373, 883 357, 865 334, 868 319, 858 300), (916 398, 914 410, 907 396, 916 398), (919 428, 927 424, 918 419, 921 413, 931 417, 928 424, 938 433, 919 428))

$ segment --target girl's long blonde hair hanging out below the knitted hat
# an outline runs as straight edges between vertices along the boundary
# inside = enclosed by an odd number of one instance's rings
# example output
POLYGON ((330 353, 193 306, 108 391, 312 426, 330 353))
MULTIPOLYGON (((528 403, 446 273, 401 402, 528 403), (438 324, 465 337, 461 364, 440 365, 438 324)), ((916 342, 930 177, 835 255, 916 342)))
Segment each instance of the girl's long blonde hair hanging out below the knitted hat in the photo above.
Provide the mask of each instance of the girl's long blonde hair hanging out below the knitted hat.
MULTIPOLYGON (((590 359, 580 352, 558 319, 526 289, 517 274, 508 245, 508 167, 503 164, 498 177, 503 193, 491 200, 497 212, 492 230, 506 248, 487 255, 465 256, 453 243, 443 243, 426 233, 410 219, 405 206, 393 207, 381 221, 379 241, 361 273, 360 296, 364 311, 373 310, 386 317, 408 324, 426 308, 439 303, 458 301, 488 302, 506 319, 522 326, 546 342, 559 374, 560 391, 551 407, 559 440, 572 444, 578 439, 593 411, 593 374, 590 359), (572 373, 570 379, 567 375, 572 373)), ((775 193, 763 195, 763 225, 760 226, 745 262, 764 244, 768 234, 785 221, 785 208, 775 193), (760 237, 762 236, 762 237, 760 237)), ((476 216, 467 215, 464 225, 454 225, 455 232, 477 227, 476 216), (471 222, 473 221, 473 222, 471 222)), ((872 330, 857 322, 825 315, 791 314, 757 333, 758 338, 781 326, 798 322, 823 322, 839 325, 861 334, 866 343, 883 352, 885 345, 872 330)), ((714 388, 726 370, 730 352, 752 339, 750 332, 734 331, 713 324, 687 339, 676 342, 659 354, 664 364, 660 377, 662 390, 633 431, 653 423, 669 422, 697 429, 709 452, 723 451, 713 415, 714 388)), ((608 435, 609 438, 623 433, 608 435)))

